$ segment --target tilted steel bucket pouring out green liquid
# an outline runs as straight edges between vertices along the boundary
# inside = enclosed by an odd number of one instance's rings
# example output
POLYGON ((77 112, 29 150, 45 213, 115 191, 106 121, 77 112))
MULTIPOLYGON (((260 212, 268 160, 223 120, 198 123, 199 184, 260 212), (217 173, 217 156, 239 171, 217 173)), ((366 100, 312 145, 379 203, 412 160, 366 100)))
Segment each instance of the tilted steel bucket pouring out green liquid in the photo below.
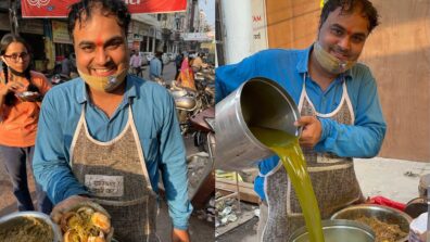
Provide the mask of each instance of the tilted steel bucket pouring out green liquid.
POLYGON ((274 153, 251 132, 258 126, 299 136, 294 100, 274 80, 257 77, 243 82, 215 106, 215 167, 241 170, 274 153))

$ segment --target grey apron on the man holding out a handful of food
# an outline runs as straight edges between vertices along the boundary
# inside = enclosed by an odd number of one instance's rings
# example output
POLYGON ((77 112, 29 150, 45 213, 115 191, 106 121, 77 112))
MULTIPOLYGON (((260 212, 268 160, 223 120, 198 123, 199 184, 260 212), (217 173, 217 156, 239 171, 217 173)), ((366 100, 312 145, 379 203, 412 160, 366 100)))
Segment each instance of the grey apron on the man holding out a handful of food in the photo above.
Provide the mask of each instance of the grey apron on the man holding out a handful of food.
POLYGON ((73 137, 71 165, 94 202, 111 215, 116 240, 159 241, 156 194, 148 176, 130 106, 124 130, 113 140, 101 142, 89 135, 84 105, 73 137))

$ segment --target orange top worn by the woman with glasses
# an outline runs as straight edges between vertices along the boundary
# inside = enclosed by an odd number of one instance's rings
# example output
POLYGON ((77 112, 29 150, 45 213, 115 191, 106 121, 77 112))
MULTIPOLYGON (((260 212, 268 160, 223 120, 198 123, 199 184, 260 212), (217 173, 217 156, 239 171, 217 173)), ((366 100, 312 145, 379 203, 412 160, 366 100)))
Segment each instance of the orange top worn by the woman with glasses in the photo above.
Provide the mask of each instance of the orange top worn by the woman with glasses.
MULTIPOLYGON (((24 85, 29 81, 24 77, 13 76, 13 80, 24 85)), ((51 88, 48 79, 41 73, 31 72, 31 82, 45 95, 51 88)), ((4 74, 0 73, 0 89, 5 88, 4 74)), ((35 145, 37 123, 39 120, 40 102, 24 102, 17 100, 14 105, 0 106, 0 144, 7 147, 26 148, 35 145)))

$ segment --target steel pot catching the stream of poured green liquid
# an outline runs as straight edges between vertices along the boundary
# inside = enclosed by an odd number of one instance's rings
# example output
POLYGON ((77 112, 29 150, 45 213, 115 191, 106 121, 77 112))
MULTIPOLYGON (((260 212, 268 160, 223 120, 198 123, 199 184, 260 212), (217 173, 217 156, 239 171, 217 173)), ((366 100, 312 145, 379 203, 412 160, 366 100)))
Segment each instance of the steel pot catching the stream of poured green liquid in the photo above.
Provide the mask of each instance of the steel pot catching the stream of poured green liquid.
MULTIPOLYGON (((324 220, 321 222, 322 233, 327 242, 374 242, 375 233, 370 227, 362 222, 336 219, 324 220)), ((306 227, 302 227, 294 231, 290 242, 308 242, 308 233, 306 227)))

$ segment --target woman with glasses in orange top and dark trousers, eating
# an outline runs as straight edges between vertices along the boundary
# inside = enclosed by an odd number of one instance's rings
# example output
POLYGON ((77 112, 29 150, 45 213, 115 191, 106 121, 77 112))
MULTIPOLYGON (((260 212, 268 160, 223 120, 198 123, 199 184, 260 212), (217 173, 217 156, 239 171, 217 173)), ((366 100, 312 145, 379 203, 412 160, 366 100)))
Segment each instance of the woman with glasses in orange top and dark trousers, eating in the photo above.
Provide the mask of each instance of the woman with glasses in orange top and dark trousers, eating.
MULTIPOLYGON (((11 178, 18 211, 34 211, 26 162, 31 163, 42 97, 51 88, 43 74, 30 71, 29 46, 12 34, 0 42, 0 161, 11 178)), ((49 214, 52 203, 36 184, 37 208, 49 214)))

